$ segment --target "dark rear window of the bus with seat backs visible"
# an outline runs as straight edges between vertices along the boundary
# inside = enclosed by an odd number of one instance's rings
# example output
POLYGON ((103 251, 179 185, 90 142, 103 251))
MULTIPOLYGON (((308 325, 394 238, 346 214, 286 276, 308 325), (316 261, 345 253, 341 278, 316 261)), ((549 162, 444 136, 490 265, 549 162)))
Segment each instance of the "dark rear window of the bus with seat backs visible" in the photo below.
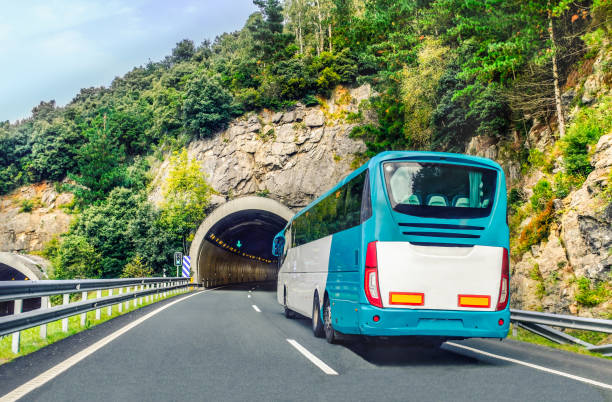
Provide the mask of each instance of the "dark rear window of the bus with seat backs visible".
POLYGON ((497 173, 491 169, 443 163, 383 164, 391 207, 408 215, 432 218, 489 216, 497 173))

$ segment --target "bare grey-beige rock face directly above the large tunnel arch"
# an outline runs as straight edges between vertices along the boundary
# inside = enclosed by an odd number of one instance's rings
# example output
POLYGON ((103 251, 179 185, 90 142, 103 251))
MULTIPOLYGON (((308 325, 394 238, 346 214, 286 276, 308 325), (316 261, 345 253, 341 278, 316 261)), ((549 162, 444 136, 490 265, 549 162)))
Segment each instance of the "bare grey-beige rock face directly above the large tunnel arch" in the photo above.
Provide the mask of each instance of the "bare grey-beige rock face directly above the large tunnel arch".
MULTIPOLYGON (((353 170, 362 141, 349 138, 355 124, 344 121, 371 95, 369 86, 339 88, 324 107, 298 104, 283 113, 262 112, 237 119, 227 130, 189 145, 191 158, 218 195, 212 204, 245 195, 265 195, 298 209, 353 170), (339 101, 341 99, 342 101, 339 101)), ((162 201, 169 162, 154 180, 150 199, 162 201)))

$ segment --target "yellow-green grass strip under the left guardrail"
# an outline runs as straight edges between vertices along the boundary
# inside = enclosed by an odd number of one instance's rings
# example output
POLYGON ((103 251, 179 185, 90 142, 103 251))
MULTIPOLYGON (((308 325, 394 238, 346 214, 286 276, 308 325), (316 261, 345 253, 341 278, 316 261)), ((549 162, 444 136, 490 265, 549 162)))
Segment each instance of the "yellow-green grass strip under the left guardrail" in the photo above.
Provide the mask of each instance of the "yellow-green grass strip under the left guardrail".
MULTIPOLYGON (((75 316, 68 318, 68 332, 62 331, 62 321, 61 320, 53 321, 47 324, 47 337, 45 339, 40 337, 40 326, 23 330, 21 331, 21 343, 20 343, 20 350, 18 354, 13 353, 11 350, 13 336, 12 335, 4 336, 0 338, 0 365, 10 362, 11 360, 17 357, 25 356, 27 354, 35 352, 38 349, 41 349, 47 345, 51 345, 52 343, 55 343, 59 340, 67 338, 71 335, 77 334, 81 331, 87 330, 91 327, 94 327, 98 324, 111 320, 120 315, 124 315, 131 311, 137 310, 141 307, 156 303, 160 300, 165 300, 165 299, 168 299, 174 296, 178 296, 182 293, 183 291, 181 291, 181 293, 178 293, 176 295, 168 294, 166 297, 163 297, 162 294, 160 293, 157 300, 153 300, 152 297, 150 297, 148 303, 145 301, 145 298, 142 297, 142 304, 137 304, 136 307, 134 307, 133 299, 131 299, 128 303, 127 309, 125 308, 125 302, 122 303, 123 312, 121 313, 119 312, 118 304, 112 306, 112 311, 110 315, 107 314, 108 308, 102 307, 100 311, 99 320, 96 320, 95 310, 89 311, 86 313, 87 317, 85 319, 84 326, 81 326, 81 314, 77 314, 75 316)), ((114 290, 113 294, 117 295, 116 289, 114 290)), ((102 291, 102 297, 105 297, 105 296, 108 296, 108 290, 102 291)), ((87 299, 93 299, 95 297, 96 297, 96 291, 89 292, 87 295, 87 299)), ((78 294, 78 297, 74 297, 74 298, 71 297, 72 302, 74 302, 77 299, 80 300, 80 293, 78 294)))

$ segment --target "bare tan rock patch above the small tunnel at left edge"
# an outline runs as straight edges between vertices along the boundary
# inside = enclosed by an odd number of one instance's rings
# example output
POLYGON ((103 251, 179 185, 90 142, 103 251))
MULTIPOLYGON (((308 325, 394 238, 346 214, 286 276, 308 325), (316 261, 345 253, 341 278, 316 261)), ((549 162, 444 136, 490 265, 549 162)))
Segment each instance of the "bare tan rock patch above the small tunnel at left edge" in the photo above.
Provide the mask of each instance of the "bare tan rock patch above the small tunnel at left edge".
POLYGON ((58 194, 47 183, 0 198, 0 251, 41 250, 53 236, 66 232, 72 216, 59 207, 72 199, 72 194, 58 194))

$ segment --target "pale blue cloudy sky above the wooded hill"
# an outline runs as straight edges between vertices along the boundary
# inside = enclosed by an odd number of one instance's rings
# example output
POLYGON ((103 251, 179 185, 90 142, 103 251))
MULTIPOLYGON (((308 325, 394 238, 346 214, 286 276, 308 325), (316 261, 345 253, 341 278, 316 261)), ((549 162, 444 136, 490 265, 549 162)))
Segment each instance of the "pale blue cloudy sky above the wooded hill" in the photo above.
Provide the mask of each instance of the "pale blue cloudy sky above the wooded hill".
POLYGON ((242 28, 252 0, 0 0, 0 121, 242 28))

